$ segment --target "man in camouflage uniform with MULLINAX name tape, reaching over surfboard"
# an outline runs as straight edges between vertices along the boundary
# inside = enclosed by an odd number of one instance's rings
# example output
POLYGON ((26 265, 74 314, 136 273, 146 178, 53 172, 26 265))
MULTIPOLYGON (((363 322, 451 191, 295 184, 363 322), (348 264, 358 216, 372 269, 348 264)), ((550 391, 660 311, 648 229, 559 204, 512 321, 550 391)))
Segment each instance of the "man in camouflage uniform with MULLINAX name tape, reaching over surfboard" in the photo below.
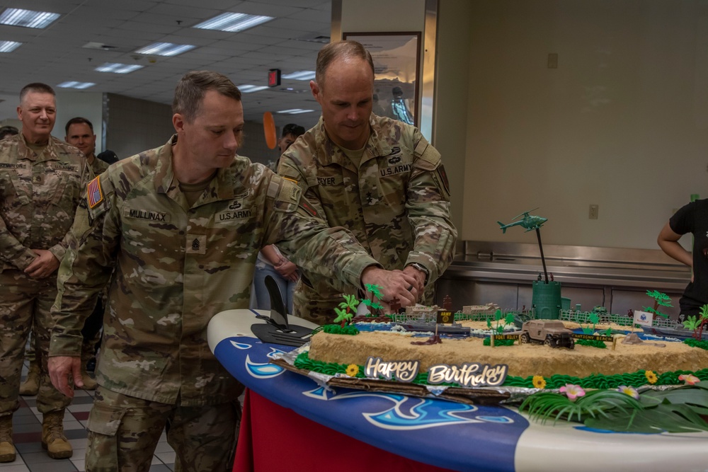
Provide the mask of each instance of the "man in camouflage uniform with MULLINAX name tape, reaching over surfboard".
POLYGON ((405 283, 346 230, 312 217, 297 185, 236 156, 240 97, 221 74, 186 74, 173 103, 176 136, 110 166, 77 212, 50 371, 67 395, 67 376, 81 386, 81 326, 110 280, 86 471, 147 471, 166 422, 177 468, 230 470, 243 386, 210 352, 207 324, 248 308, 266 244, 347 284, 405 283))

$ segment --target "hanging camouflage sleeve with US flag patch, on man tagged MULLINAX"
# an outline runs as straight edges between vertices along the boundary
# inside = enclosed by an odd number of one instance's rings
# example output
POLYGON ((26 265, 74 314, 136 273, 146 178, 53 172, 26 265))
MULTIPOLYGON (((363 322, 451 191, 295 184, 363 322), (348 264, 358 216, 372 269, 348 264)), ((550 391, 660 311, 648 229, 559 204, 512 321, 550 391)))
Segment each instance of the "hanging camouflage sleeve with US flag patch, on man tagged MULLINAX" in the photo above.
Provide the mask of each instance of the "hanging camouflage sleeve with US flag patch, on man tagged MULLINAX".
POLYGON ((115 267, 120 226, 115 223, 115 212, 111 212, 113 187, 107 178, 104 181, 101 177, 91 182, 97 187, 89 184, 89 192, 91 188, 97 188, 101 200, 96 202, 94 199, 96 205, 93 207, 88 197, 81 200, 74 225, 67 235, 69 247, 59 266, 59 293, 52 306, 55 326, 52 329, 50 357, 80 354, 81 328, 115 267))

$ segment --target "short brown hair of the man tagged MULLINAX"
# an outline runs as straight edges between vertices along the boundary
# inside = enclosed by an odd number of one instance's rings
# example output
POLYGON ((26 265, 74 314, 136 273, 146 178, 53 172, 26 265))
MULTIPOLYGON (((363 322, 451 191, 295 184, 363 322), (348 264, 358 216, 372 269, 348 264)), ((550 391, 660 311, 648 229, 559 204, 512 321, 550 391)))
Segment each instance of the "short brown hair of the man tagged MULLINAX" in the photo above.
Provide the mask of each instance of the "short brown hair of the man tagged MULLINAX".
POLYGON ((241 101, 241 91, 227 76, 212 71, 190 71, 182 76, 175 88, 172 113, 179 113, 188 123, 193 122, 200 112, 205 93, 210 90, 241 101))

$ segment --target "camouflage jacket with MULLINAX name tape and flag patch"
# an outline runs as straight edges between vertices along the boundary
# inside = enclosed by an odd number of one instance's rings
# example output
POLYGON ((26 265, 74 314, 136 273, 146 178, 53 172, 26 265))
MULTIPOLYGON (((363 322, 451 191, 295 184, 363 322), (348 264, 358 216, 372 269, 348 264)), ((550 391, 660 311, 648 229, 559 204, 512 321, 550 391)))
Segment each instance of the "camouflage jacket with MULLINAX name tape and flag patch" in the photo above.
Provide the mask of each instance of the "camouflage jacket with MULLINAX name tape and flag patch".
POLYGON ((89 183, 95 192, 77 211, 59 268, 50 356, 79 355, 84 320, 115 267, 98 384, 160 403, 224 403, 241 387, 212 355, 207 324, 249 307, 261 247, 278 243, 299 265, 356 285, 376 261, 299 206, 297 185, 245 157, 219 169, 188 207, 173 174, 175 142, 113 164, 100 188, 89 183))

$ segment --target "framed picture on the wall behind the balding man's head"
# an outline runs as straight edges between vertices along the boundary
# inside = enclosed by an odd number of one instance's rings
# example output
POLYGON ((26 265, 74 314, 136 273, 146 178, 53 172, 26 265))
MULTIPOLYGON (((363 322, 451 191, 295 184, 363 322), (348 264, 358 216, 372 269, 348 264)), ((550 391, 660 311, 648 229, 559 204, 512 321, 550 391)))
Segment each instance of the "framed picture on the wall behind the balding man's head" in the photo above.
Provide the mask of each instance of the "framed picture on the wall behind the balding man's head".
POLYGON ((421 33, 343 33, 360 42, 374 59, 375 115, 420 126, 421 33))

